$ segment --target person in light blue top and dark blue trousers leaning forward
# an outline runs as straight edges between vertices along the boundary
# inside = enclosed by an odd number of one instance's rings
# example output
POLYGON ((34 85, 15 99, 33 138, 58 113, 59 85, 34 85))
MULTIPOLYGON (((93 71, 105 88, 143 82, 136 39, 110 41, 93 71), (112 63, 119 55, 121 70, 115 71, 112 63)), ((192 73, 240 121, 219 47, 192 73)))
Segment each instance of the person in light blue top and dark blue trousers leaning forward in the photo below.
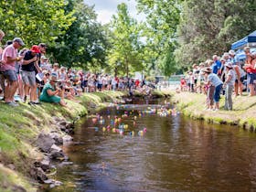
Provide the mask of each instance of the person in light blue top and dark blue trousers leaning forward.
POLYGON ((213 85, 215 87, 213 100, 215 104, 215 111, 219 111, 219 99, 220 99, 220 91, 222 89, 223 82, 219 80, 219 77, 217 74, 213 73, 211 69, 207 68, 204 69, 204 73, 207 78, 207 85, 213 85))

